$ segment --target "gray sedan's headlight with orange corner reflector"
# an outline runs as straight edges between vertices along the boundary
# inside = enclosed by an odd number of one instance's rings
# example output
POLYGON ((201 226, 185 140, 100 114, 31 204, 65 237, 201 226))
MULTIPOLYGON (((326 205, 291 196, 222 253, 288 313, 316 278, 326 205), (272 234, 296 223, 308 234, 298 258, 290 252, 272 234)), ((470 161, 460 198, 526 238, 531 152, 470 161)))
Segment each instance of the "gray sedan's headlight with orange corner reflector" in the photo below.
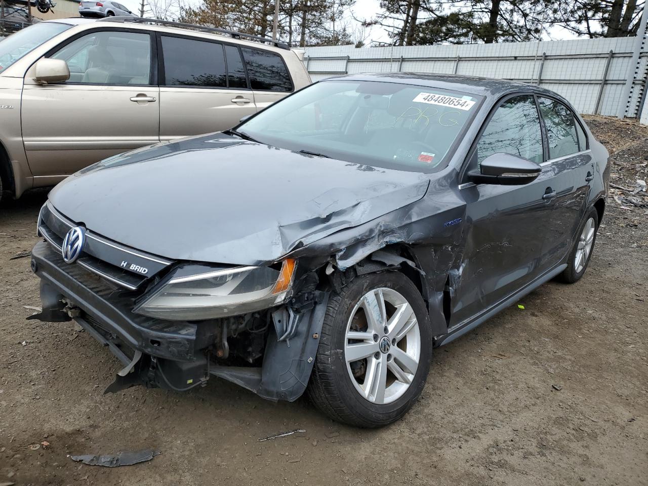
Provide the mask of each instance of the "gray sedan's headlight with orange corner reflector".
POLYGON ((196 321, 273 307, 290 297, 295 260, 284 260, 281 270, 242 266, 194 275, 179 270, 134 311, 157 319, 196 321))

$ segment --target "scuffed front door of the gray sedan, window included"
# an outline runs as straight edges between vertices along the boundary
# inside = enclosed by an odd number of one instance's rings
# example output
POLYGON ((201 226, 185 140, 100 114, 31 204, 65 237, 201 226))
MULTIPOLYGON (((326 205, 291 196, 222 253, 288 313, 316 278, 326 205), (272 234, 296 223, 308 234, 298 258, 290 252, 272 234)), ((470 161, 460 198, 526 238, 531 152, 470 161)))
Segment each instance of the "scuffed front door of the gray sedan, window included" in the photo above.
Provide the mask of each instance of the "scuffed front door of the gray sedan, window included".
MULTIPOLYGON (((465 172, 492 154, 513 154, 540 164, 544 152, 535 97, 513 95, 492 112, 465 172)), ((543 253, 554 203, 543 196, 554 184, 549 166, 526 185, 475 185, 463 179, 459 191, 467 202, 466 229, 451 327, 496 305, 554 264, 543 253)))

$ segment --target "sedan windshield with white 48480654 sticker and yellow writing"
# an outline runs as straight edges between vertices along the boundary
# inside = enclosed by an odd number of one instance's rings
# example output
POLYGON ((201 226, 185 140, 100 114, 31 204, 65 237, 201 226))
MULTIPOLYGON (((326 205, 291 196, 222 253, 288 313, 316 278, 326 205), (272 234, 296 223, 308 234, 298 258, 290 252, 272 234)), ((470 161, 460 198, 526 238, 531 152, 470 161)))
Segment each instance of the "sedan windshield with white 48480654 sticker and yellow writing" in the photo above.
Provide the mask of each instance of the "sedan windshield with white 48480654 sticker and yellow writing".
POLYGON ((481 97, 426 86, 331 80, 237 127, 268 145, 344 161, 436 172, 481 97))

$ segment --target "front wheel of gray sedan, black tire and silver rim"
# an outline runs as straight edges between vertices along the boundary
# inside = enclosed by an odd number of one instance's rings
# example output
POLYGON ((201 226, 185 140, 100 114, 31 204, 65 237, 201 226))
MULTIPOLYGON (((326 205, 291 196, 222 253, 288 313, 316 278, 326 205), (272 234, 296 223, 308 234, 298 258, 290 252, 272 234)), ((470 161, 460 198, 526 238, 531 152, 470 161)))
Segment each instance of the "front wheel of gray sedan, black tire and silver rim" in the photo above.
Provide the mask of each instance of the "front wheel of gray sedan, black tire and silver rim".
POLYGON ((336 421, 390 424, 421 395, 431 358, 416 286, 399 272, 362 275, 329 299, 308 395, 336 421))

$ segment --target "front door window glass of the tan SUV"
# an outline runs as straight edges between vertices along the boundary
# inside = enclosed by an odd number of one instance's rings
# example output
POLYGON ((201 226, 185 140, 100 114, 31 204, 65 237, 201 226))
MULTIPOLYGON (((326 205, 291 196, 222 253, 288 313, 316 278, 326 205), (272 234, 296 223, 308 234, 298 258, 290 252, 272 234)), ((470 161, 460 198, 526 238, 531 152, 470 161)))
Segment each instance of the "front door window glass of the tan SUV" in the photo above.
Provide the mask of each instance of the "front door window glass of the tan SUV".
POLYGON ((87 84, 149 84, 149 34, 93 32, 65 45, 51 56, 67 62, 68 82, 87 84))

